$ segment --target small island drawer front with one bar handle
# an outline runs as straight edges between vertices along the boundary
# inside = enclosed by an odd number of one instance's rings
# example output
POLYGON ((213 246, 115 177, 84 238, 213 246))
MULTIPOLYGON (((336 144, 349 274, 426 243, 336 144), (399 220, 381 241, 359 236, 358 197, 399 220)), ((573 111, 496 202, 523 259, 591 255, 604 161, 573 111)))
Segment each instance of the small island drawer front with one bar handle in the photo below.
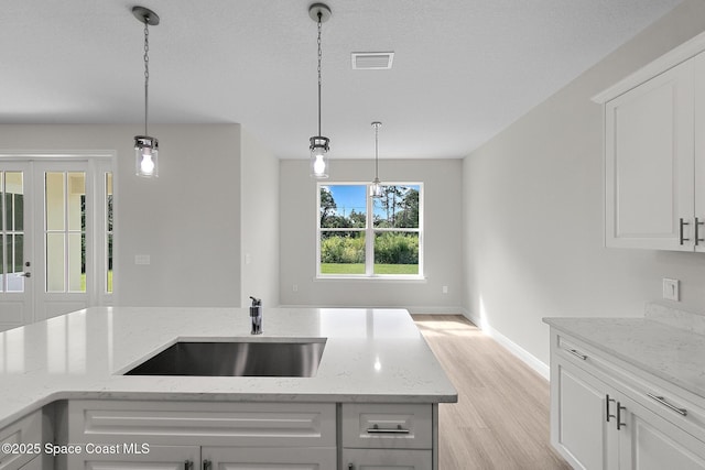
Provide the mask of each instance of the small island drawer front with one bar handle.
POLYGON ((344 404, 343 447, 431 449, 430 404, 344 404))

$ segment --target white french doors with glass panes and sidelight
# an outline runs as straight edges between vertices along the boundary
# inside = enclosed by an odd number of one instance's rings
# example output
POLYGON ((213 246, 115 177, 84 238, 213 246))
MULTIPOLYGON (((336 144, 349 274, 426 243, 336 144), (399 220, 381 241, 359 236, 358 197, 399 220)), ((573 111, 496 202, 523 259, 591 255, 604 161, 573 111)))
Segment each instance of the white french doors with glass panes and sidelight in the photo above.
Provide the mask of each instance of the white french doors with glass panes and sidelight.
POLYGON ((109 163, 0 160, 0 330, 109 302, 109 163))

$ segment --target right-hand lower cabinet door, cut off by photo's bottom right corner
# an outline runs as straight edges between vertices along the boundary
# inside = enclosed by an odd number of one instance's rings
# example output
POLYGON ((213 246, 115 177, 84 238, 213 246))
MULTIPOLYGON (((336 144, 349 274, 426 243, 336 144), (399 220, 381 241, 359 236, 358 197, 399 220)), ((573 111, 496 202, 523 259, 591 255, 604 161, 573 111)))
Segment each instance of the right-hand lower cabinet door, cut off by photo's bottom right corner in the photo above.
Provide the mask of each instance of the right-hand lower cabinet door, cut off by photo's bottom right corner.
POLYGON ((630 398, 620 404, 620 469, 705 469, 705 442, 630 398))

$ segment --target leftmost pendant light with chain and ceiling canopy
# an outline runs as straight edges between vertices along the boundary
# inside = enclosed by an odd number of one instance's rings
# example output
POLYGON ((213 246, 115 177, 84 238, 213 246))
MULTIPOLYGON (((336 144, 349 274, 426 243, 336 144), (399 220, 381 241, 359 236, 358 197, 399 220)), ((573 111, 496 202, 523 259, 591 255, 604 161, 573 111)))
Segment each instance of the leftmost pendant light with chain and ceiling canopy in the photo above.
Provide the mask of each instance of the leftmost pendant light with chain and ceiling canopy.
POLYGON ((150 32, 149 26, 159 24, 159 15, 144 7, 132 7, 132 14, 144 23, 144 135, 134 136, 135 173, 138 176, 154 178, 158 174, 159 141, 149 136, 147 121, 149 117, 150 86, 150 32))

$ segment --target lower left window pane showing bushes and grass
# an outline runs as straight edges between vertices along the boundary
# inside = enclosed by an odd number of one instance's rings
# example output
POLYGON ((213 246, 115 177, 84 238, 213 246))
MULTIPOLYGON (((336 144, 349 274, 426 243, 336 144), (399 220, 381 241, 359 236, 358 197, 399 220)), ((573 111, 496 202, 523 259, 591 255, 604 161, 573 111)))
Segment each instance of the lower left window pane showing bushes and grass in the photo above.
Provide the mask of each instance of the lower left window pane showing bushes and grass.
POLYGON ((322 274, 365 274, 365 232, 321 232, 322 274))

